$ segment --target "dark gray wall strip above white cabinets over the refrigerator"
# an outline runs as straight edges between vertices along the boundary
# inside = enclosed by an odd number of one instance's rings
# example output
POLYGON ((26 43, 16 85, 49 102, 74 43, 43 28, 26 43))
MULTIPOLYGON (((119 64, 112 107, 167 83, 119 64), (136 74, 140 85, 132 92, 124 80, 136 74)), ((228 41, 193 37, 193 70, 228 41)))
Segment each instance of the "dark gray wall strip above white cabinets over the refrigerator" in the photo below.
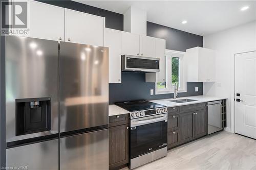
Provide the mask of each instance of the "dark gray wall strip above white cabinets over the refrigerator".
POLYGON ((77 3, 74 1, 70 1, 70 0, 58 0, 58 1, 56 1, 56 0, 52 0, 52 1, 40 0, 39 2, 105 17, 106 28, 123 31, 123 15, 122 14, 111 12, 111 11, 100 9, 100 8, 96 8, 96 7, 92 7, 92 6, 89 6, 86 4, 77 3))

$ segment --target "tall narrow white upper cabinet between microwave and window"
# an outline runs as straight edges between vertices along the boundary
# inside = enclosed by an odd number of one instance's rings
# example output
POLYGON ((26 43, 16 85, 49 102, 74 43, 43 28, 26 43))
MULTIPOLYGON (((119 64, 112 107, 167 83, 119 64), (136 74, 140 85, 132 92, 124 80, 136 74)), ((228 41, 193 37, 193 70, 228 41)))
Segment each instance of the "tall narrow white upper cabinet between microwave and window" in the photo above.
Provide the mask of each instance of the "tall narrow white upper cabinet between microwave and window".
POLYGON ((166 80, 166 57, 165 57, 165 39, 156 38, 156 58, 160 58, 160 71, 157 72, 157 81, 166 80))

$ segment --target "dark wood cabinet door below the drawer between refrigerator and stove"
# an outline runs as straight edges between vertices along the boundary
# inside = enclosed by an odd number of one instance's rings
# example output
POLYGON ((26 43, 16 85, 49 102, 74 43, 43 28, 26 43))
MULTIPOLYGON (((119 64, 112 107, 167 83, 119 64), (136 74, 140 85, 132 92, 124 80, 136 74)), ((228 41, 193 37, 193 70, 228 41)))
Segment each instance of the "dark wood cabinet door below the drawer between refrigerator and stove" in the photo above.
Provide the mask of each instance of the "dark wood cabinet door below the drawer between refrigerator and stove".
POLYGON ((109 168, 129 162, 129 124, 109 128, 109 168))

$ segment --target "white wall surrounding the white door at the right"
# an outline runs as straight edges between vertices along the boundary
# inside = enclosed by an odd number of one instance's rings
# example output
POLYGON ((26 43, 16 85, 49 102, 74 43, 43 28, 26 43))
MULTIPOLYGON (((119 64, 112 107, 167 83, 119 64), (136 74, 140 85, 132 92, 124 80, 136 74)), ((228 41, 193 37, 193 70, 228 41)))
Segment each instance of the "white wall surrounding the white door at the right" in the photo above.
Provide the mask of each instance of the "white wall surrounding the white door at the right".
POLYGON ((203 37, 203 46, 216 51, 216 82, 204 83, 204 95, 228 98, 226 130, 232 131, 234 54, 256 49, 256 21, 206 35, 203 37))

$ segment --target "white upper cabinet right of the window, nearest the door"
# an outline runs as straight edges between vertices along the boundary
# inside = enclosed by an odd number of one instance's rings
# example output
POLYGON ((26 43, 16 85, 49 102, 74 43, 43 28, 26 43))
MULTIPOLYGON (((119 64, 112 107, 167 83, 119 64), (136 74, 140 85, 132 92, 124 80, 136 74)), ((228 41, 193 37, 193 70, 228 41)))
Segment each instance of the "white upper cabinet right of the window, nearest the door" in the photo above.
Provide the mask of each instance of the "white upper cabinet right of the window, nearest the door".
POLYGON ((215 52, 194 47, 186 50, 185 76, 187 82, 215 82, 215 52))

